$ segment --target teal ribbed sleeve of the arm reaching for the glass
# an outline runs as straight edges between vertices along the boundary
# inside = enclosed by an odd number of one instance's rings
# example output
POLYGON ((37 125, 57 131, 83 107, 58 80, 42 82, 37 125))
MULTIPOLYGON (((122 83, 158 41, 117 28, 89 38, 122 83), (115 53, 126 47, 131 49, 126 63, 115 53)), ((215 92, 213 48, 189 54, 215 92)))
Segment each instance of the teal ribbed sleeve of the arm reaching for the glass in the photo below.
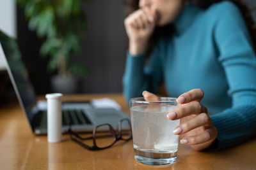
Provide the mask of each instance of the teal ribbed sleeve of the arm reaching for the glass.
MULTIPOLYGON (((211 116, 218 129, 214 150, 228 148, 256 136, 256 57, 239 9, 223 3, 214 38, 232 97, 232 107, 211 116)), ((221 100, 221 99, 220 99, 221 100)))

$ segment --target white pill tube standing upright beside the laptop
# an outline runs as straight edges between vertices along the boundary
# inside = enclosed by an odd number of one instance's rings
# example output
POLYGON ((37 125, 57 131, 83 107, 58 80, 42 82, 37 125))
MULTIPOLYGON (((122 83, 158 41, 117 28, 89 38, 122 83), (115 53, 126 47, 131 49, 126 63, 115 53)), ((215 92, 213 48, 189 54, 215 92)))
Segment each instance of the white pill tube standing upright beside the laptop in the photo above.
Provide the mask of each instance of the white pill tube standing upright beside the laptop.
POLYGON ((61 141, 61 97, 60 93, 46 94, 47 99, 47 137, 49 143, 61 141))

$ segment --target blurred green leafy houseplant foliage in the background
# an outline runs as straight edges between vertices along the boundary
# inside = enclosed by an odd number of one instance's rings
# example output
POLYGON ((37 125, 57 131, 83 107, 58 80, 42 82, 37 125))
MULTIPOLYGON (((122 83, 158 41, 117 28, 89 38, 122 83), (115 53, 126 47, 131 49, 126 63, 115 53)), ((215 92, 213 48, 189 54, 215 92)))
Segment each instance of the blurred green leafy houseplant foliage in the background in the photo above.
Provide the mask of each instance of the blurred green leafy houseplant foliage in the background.
MULTIPOLYGON (((79 51, 79 40, 86 31, 86 19, 82 10, 84 1, 90 0, 17 0, 24 8, 29 29, 44 40, 40 55, 50 57, 47 70, 57 71, 55 79, 74 81, 75 76, 87 73, 83 64, 70 60, 79 51)), ((57 84, 63 86, 63 83, 57 84)), ((61 87, 54 89, 61 92, 61 87)))

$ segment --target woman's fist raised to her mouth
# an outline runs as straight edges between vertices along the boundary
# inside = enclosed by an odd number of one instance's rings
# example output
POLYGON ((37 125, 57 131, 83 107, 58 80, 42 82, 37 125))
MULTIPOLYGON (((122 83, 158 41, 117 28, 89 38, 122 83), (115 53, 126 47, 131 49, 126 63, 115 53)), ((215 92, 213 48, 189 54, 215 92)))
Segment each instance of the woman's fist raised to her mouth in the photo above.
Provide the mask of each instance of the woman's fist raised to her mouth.
POLYGON ((145 52, 148 39, 156 25, 156 11, 143 8, 131 13, 124 20, 125 30, 129 38, 129 52, 138 55, 145 52))

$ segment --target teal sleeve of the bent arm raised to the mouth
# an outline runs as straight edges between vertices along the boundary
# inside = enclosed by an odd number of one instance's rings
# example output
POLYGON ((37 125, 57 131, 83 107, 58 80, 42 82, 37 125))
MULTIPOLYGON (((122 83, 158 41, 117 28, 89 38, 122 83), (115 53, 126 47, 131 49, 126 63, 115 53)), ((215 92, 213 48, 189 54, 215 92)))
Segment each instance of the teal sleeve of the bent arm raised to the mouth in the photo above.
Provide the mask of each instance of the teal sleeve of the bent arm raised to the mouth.
POLYGON ((144 90, 156 93, 162 80, 162 74, 157 46, 147 64, 145 64, 145 53, 132 56, 127 52, 123 76, 124 96, 127 101, 132 97, 140 97, 144 90))

